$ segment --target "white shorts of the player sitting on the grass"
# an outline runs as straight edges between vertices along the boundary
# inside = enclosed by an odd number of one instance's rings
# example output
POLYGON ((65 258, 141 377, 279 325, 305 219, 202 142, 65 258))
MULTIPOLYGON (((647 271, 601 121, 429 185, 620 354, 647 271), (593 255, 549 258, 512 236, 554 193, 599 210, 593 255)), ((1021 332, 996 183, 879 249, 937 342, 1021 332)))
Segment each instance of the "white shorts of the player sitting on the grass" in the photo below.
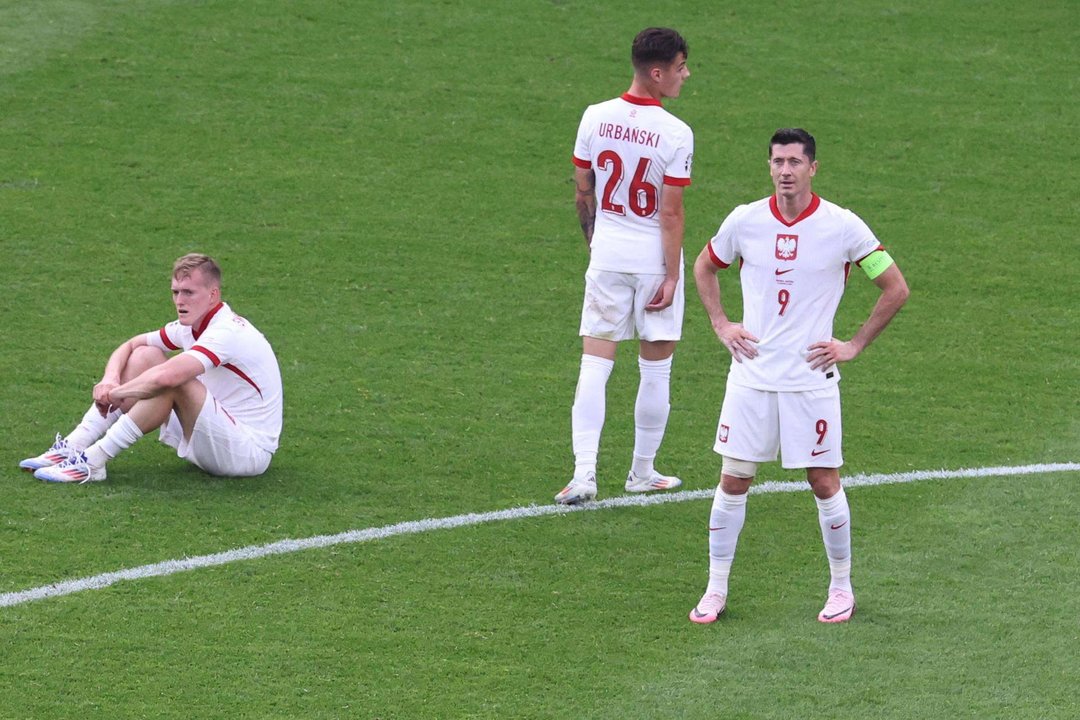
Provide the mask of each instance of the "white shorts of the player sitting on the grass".
POLYGON ((176 454, 211 475, 248 477, 261 475, 270 466, 272 453, 255 444, 247 427, 229 415, 206 391, 202 410, 195 418, 191 439, 185 439, 176 411, 161 426, 158 439, 175 448, 176 454))

